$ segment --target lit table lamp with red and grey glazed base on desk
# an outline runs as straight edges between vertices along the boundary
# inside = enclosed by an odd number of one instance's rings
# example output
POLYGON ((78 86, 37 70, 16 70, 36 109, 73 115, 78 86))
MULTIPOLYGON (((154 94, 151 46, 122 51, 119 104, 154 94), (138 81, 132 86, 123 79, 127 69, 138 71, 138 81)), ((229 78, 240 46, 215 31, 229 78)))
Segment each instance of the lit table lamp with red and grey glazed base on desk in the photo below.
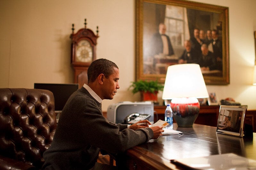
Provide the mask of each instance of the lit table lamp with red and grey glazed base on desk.
POLYGON ((163 100, 171 100, 173 118, 179 127, 192 127, 200 104, 197 98, 208 98, 208 92, 198 64, 176 64, 167 69, 163 100))

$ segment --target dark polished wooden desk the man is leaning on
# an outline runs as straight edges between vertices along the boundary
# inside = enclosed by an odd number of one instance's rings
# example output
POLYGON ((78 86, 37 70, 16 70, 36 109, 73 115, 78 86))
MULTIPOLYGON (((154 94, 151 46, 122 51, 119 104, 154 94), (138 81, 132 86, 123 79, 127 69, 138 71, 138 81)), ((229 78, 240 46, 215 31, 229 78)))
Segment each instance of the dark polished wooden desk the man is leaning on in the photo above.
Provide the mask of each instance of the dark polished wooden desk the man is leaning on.
POLYGON ((254 138, 233 137, 217 134, 216 127, 200 124, 180 128, 174 123, 174 129, 182 131, 183 135, 161 136, 135 146, 122 155, 121 164, 137 170, 182 169, 170 163, 170 160, 231 152, 256 160, 256 133, 253 134, 254 138))

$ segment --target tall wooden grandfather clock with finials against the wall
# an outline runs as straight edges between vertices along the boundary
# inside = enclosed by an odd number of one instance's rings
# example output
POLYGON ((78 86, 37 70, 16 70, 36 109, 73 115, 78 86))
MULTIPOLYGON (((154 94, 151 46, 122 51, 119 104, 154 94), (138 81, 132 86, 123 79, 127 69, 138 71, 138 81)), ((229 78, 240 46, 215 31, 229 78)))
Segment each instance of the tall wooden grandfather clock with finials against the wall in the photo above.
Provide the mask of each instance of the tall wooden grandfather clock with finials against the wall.
POLYGON ((79 88, 88 82, 87 70, 92 61, 96 58, 96 45, 98 36, 98 26, 96 35, 92 30, 81 28, 77 33, 74 33, 74 24, 72 24, 72 34, 70 38, 72 40, 71 49, 71 64, 75 70, 75 83, 78 83, 79 88))

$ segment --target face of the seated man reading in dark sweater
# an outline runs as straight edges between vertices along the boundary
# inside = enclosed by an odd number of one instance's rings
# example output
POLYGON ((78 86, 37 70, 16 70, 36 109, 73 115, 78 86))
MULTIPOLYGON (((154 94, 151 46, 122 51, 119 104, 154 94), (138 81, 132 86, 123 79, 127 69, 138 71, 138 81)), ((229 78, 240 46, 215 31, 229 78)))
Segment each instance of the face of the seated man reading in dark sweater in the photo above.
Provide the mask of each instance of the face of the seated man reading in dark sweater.
POLYGON ((109 78, 104 77, 103 81, 103 99, 113 99, 114 95, 119 89, 119 70, 114 68, 114 73, 109 76, 109 78))

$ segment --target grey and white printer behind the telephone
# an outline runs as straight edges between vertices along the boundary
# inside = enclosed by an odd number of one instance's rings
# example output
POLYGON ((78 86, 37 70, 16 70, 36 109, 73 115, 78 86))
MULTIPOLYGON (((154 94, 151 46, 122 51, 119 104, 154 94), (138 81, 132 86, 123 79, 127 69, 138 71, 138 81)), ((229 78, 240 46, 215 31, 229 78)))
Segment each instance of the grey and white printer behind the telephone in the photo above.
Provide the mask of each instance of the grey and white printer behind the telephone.
MULTIPOLYGON (((154 103, 151 101, 145 102, 130 102, 124 101, 112 104, 108 107, 107 118, 110 122, 124 123, 124 119, 129 115, 134 117, 134 113, 140 114, 141 120, 147 119, 150 122, 154 121, 154 103)), ((136 114, 137 115, 137 114, 136 114)), ((136 117, 136 116, 135 116, 136 117)), ((138 119, 137 117, 136 119, 138 119)), ((126 122, 127 123, 127 122, 126 122)))

